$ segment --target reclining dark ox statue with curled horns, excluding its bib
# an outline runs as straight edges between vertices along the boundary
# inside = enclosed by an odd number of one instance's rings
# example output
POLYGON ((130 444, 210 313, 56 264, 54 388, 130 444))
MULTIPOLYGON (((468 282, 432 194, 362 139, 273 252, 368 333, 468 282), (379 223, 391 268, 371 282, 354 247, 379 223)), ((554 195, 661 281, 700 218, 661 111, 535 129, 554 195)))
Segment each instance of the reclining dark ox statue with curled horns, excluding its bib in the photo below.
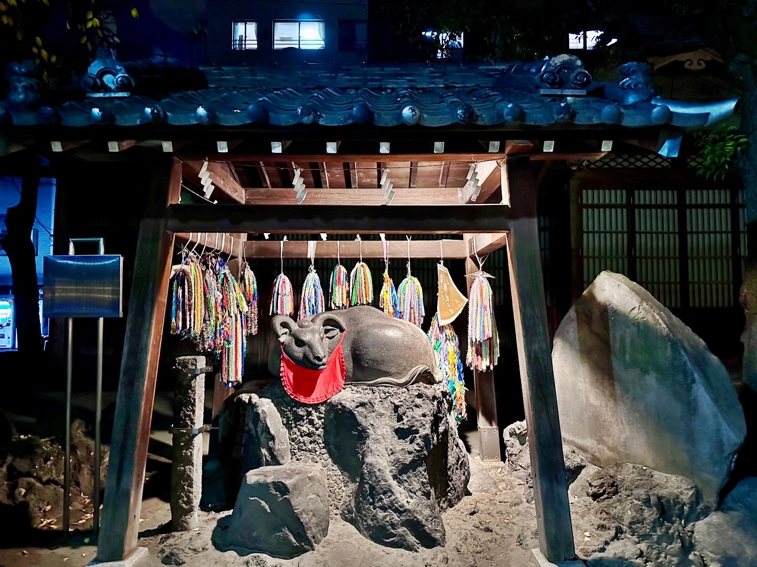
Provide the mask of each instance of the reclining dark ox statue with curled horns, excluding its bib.
MULTIPOLYGON (((325 368, 342 340, 347 383, 401 387, 442 380, 425 333, 369 305, 326 311, 296 323, 276 315, 271 327, 288 358, 310 370, 325 368)), ((271 349, 269 370, 274 376, 280 364, 281 352, 271 349)))

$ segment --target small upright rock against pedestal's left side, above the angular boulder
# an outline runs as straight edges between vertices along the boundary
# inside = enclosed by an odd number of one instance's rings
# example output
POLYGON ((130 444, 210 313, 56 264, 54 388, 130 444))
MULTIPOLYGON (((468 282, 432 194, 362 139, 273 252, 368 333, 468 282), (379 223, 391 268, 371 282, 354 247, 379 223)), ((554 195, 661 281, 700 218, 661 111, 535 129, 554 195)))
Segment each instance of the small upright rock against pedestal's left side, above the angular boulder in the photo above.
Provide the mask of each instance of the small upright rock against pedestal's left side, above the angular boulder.
POLYGON ((242 448, 242 470, 282 465, 291 460, 289 433, 273 401, 250 395, 242 448))

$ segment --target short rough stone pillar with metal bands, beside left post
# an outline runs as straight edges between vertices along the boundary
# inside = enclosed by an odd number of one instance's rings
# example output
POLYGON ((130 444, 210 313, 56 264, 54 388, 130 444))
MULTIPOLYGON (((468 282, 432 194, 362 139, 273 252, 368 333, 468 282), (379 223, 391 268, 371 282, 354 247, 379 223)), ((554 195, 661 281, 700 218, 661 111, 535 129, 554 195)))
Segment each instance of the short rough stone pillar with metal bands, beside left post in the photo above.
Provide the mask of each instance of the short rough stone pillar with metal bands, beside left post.
POLYGON ((205 407, 204 356, 176 358, 171 463, 171 528, 197 527, 202 495, 202 429, 205 407), (193 431, 194 430, 194 431, 193 431))

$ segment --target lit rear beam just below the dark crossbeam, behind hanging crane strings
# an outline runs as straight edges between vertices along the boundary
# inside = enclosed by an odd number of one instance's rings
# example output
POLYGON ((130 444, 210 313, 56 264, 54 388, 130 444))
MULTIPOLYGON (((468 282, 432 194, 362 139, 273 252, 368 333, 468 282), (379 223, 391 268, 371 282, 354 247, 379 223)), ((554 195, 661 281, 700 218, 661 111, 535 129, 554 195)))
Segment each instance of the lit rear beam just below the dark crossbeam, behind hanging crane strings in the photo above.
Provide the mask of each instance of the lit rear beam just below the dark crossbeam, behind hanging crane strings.
MULTIPOLYGON (((444 247, 445 259, 464 259, 468 257, 465 240, 410 240, 410 256, 416 259, 438 259, 439 243, 444 247)), ((245 243, 245 256, 248 258, 277 259, 281 251, 280 240, 248 240, 245 243)), ((284 243, 284 258, 307 258, 307 242, 304 240, 287 240, 284 243)), ((316 258, 360 257, 360 243, 357 240, 318 241, 316 258)), ((383 258, 384 243, 380 240, 363 240, 363 258, 383 258)), ((397 240, 389 241, 389 258, 407 259, 407 243, 397 240)))

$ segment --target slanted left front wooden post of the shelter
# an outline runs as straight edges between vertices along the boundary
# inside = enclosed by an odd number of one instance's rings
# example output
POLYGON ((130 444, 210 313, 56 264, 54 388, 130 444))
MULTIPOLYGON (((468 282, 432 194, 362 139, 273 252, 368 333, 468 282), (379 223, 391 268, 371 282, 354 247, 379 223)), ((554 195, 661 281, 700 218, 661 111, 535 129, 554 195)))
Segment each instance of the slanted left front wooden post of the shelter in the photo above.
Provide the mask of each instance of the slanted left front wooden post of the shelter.
POLYGON ((98 538, 97 557, 103 562, 126 559, 136 550, 173 251, 166 207, 179 201, 182 164, 173 159, 150 174, 146 194, 152 203, 139 223, 98 538))

